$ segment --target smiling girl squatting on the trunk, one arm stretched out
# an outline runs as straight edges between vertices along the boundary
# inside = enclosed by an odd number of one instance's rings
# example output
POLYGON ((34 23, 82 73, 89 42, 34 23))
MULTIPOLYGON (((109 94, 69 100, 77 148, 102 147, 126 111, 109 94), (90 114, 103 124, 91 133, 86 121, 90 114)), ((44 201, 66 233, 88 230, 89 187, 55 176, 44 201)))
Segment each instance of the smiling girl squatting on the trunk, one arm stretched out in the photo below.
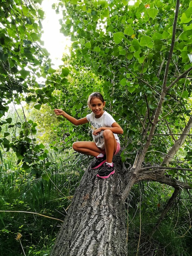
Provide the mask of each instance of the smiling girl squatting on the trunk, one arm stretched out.
POLYGON ((103 110, 105 101, 99 92, 93 92, 87 103, 92 113, 81 119, 71 117, 61 109, 55 109, 54 112, 56 115, 67 118, 76 126, 91 123, 94 141, 76 141, 73 148, 77 152, 96 157, 91 168, 96 169, 102 166, 96 176, 105 179, 115 173, 112 160, 121 148, 117 134, 123 134, 123 129, 109 113, 103 110))

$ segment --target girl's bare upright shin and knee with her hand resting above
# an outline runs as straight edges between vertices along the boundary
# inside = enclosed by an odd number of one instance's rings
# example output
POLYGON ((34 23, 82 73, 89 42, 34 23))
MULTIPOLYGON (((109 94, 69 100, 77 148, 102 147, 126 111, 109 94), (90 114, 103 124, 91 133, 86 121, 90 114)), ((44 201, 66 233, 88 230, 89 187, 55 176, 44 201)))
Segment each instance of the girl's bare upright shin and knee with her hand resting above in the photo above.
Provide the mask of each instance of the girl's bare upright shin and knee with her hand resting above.
POLYGON ((112 163, 113 155, 117 149, 117 142, 111 130, 104 130, 103 136, 105 141, 105 152, 107 156, 106 162, 112 163))

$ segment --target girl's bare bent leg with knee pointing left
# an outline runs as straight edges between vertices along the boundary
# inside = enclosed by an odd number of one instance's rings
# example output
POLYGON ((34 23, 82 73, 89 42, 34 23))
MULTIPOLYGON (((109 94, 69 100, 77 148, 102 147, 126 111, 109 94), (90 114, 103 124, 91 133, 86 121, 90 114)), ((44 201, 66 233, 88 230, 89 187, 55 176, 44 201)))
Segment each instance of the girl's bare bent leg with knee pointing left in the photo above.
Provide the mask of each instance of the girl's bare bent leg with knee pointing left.
POLYGON ((73 149, 79 153, 86 155, 98 156, 102 151, 98 148, 93 141, 76 141, 73 144, 73 149))

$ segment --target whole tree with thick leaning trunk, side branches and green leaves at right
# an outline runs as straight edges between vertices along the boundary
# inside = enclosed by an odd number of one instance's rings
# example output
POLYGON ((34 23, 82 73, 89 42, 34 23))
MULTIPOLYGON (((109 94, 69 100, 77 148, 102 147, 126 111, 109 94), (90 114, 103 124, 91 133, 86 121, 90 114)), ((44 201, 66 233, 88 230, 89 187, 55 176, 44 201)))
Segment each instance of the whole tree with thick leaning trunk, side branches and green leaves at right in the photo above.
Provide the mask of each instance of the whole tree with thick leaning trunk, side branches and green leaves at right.
POLYGON ((132 186, 153 180, 174 188, 152 234, 181 188, 191 189, 190 150, 178 154, 191 129, 191 2, 63 4, 61 31, 74 42, 71 59, 104 78, 110 110, 128 139, 125 168, 116 160, 111 179, 85 172, 52 255, 126 255, 123 205, 132 186))

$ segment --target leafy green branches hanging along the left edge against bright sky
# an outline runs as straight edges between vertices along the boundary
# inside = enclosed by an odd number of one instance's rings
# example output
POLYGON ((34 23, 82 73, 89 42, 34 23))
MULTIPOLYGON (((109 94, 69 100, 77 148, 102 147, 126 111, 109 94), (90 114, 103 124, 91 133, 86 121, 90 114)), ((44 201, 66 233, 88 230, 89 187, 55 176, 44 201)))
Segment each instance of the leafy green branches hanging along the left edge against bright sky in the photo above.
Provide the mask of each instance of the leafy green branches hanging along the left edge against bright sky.
MULTIPOLYGON (((51 90, 46 89, 45 83, 38 82, 52 72, 49 53, 42 48, 40 39, 44 17, 44 11, 38 7, 41 2, 8 0, 0 3, 0 117, 6 115, 11 102, 19 105, 22 101, 32 101, 36 109, 48 99, 51 102, 51 90)), ((9 129, 17 127, 18 132, 13 137, 9 136, 9 131, 1 136, 2 149, 11 148, 25 170, 32 168, 33 174, 40 175, 42 171, 37 167, 47 153, 33 136, 37 124, 27 120, 25 112, 16 122, 11 117, 5 118, 0 122, 0 130, 4 124, 9 129)))

